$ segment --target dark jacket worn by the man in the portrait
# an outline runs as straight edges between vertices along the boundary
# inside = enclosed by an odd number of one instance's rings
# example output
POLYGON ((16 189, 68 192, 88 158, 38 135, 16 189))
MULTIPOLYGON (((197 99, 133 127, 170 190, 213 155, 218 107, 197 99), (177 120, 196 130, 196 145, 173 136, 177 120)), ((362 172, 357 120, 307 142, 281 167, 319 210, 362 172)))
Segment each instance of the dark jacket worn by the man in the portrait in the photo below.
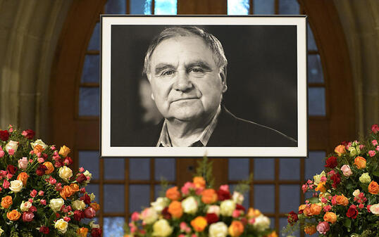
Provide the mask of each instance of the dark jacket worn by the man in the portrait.
MULTIPOLYGON (((154 127, 137 132, 132 146, 156 146, 162 126, 163 120, 154 127)), ((294 147, 297 141, 270 127, 235 117, 221 106, 216 128, 206 146, 294 147)))

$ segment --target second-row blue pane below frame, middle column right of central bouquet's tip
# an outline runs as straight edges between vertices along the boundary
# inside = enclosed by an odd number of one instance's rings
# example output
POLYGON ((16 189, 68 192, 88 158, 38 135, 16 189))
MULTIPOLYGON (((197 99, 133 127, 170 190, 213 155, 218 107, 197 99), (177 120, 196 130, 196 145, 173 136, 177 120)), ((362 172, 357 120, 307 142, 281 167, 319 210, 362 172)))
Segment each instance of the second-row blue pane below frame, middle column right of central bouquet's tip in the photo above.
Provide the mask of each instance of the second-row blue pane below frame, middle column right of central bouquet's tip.
POLYGON ((274 185, 254 185, 254 208, 261 212, 275 212, 274 185))

